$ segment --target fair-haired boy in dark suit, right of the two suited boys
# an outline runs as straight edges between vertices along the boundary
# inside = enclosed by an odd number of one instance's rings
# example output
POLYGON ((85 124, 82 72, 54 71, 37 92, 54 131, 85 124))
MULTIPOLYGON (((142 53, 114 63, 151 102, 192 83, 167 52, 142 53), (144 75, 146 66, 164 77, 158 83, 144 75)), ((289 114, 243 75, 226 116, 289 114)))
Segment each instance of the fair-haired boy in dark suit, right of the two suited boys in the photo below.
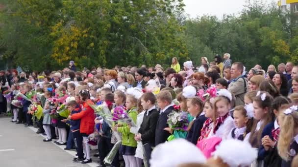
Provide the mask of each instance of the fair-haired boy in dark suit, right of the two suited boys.
POLYGON ((169 91, 161 91, 157 94, 156 99, 157 105, 160 107, 160 115, 155 130, 155 146, 165 143, 171 135, 168 131, 164 130, 164 128, 169 127, 167 124, 168 115, 174 110, 172 95, 169 91))

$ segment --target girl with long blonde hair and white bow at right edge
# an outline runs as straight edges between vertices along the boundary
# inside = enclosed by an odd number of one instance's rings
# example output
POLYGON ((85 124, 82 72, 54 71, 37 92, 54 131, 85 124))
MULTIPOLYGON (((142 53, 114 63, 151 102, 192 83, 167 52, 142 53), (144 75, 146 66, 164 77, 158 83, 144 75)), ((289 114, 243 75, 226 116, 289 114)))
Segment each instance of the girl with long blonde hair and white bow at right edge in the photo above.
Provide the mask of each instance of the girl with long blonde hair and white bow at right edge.
POLYGON ((291 162, 298 152, 298 107, 297 105, 283 111, 279 118, 280 135, 277 143, 281 167, 291 167, 291 162))

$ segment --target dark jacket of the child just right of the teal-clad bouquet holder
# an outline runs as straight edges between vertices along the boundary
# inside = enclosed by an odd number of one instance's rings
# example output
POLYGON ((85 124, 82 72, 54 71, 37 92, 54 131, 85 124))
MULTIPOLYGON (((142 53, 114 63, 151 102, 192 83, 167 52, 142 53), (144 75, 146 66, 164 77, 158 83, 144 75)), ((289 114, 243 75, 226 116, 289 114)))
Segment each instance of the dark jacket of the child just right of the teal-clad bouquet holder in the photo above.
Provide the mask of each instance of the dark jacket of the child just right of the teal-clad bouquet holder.
POLYGON ((205 113, 202 112, 200 115, 198 115, 193 121, 193 125, 189 132, 187 133, 186 140, 193 143, 194 145, 197 145, 198 139, 200 137, 200 131, 204 125, 204 122, 207 120, 205 117, 205 113))

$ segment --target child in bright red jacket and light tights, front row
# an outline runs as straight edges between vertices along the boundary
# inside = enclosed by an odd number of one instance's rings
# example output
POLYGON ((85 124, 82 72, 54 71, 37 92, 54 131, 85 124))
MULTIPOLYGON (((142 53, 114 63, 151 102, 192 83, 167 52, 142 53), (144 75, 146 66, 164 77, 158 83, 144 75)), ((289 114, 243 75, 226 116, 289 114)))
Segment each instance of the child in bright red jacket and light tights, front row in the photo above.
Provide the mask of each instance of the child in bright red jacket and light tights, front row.
MULTIPOLYGON (((95 119, 95 114, 94 110, 90 105, 93 105, 93 102, 90 100, 90 93, 88 90, 80 90, 79 91, 79 96, 80 96, 80 101, 83 105, 82 111, 73 114, 72 116, 69 116, 70 119, 72 120, 80 120, 80 136, 79 138, 83 138, 83 140, 78 140, 77 144, 78 145, 84 145, 85 153, 86 153, 86 159, 82 161, 82 164, 87 164, 91 163, 92 159, 90 156, 90 147, 87 142, 88 136, 94 132, 94 119, 95 119)), ((78 150, 81 151, 80 153, 83 152, 83 150, 78 150)))

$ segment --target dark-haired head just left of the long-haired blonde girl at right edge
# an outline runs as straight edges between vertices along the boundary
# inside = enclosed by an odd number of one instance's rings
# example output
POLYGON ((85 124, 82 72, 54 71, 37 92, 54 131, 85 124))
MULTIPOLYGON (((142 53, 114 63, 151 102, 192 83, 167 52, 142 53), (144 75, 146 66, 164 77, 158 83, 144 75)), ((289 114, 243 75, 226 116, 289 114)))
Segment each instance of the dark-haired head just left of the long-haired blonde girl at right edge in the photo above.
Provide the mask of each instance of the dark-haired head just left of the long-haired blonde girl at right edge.
POLYGON ((290 107, 290 100, 284 96, 276 97, 271 104, 272 111, 275 115, 275 118, 277 119, 281 111, 284 111, 289 107, 290 107))

